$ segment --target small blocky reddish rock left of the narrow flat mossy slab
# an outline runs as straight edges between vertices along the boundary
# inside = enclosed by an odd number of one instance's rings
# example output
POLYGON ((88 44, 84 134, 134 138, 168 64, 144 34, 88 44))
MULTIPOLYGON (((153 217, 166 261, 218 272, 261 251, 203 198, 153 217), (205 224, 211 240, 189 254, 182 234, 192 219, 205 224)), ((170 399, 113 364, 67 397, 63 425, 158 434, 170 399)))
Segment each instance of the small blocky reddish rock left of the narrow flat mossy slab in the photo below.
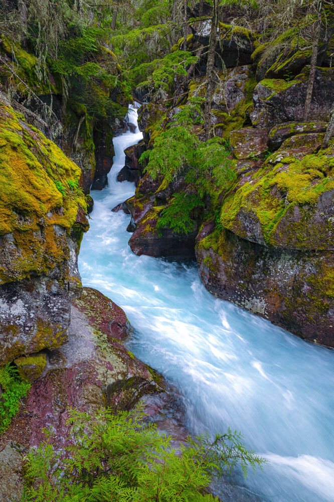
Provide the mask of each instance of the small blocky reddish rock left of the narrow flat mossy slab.
POLYGON ((267 129, 243 128, 232 131, 230 145, 237 159, 261 157, 267 149, 267 129))

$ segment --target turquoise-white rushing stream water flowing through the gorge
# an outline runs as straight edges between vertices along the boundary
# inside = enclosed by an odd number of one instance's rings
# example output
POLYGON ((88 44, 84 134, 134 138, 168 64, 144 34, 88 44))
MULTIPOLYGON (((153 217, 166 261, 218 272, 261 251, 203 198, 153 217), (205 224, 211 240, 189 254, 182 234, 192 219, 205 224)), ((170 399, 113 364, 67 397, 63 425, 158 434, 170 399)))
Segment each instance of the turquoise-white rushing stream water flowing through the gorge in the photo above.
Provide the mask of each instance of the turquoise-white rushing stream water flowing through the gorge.
POLYGON ((195 264, 131 253, 129 216, 111 209, 134 193, 116 176, 123 150, 141 138, 137 129, 114 139, 109 186, 93 192, 81 245, 83 284, 125 310, 135 329, 129 348, 179 387, 190 430, 230 426, 268 458, 263 473, 237 476, 247 493, 266 502, 334 501, 334 352, 215 299, 195 264))

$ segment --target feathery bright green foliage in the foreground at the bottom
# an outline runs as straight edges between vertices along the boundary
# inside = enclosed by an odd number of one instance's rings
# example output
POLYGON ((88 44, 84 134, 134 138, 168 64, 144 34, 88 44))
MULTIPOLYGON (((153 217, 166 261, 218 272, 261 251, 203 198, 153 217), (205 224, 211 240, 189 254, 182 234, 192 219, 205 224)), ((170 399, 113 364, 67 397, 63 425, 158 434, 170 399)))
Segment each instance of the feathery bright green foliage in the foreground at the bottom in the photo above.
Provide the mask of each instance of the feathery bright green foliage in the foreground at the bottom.
POLYGON ((247 475, 248 465, 264 463, 230 429, 214 439, 189 437, 176 451, 171 438, 143 419, 142 407, 94 418, 71 410, 65 451, 54 449, 47 430, 45 442, 28 454, 22 502, 210 502, 204 492, 212 476, 237 464, 247 475))

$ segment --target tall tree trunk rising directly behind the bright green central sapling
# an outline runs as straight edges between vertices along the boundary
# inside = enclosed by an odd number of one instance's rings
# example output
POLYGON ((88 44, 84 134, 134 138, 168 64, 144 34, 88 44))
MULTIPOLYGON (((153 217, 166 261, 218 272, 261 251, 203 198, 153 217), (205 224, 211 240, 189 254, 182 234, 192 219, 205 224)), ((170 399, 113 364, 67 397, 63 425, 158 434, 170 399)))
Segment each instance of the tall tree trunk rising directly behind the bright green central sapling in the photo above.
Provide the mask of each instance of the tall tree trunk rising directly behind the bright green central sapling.
POLYGON ((215 49, 217 43, 218 15, 219 15, 218 2, 219 0, 213 0, 213 14, 211 21, 211 33, 210 33, 209 53, 208 53, 208 63, 207 63, 207 90, 205 95, 205 110, 204 110, 204 131, 206 140, 208 140, 210 136, 211 103, 216 86, 216 73, 214 71, 214 66, 215 66, 215 49))

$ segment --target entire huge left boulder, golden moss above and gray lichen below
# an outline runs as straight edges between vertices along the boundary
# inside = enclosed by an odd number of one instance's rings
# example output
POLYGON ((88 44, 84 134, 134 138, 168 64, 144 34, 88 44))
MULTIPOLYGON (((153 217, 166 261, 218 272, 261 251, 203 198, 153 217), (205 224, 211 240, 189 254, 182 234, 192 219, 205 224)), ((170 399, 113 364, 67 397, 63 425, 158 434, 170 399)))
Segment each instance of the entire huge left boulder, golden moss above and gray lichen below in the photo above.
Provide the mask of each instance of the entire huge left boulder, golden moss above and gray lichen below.
POLYGON ((0 361, 67 339, 77 254, 88 228, 81 171, 0 105, 0 361))

